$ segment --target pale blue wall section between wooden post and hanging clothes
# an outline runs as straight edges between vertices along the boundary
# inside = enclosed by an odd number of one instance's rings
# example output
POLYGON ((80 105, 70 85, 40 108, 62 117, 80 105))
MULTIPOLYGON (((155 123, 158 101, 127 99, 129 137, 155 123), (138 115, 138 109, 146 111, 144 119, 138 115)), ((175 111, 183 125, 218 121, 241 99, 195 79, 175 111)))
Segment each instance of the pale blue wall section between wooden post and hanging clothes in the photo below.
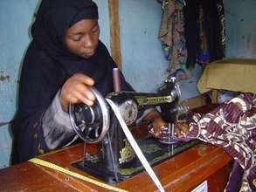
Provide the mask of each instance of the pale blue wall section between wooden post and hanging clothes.
POLYGON ((168 66, 157 39, 161 14, 155 0, 120 1, 122 71, 139 92, 154 92, 168 66))

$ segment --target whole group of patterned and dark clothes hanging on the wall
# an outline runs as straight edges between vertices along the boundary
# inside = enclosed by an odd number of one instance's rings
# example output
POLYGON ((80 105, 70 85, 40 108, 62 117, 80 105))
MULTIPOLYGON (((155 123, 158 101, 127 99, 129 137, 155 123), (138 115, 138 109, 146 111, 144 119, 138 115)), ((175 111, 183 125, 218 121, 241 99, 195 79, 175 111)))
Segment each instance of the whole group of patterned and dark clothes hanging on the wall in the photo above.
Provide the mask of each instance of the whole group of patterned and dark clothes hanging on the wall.
POLYGON ((197 63, 225 57, 223 0, 158 0, 163 15, 159 39, 168 59, 167 71, 189 79, 197 63))

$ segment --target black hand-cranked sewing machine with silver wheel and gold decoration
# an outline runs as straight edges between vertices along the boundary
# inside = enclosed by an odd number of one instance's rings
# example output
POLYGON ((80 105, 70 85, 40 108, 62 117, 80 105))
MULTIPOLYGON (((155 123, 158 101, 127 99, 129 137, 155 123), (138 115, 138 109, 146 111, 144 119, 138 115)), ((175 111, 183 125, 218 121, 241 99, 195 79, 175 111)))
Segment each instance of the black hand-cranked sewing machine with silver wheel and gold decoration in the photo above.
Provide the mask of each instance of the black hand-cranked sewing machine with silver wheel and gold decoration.
MULTIPOLYGON (((146 109, 160 107, 163 120, 170 125, 180 113, 187 110, 178 105, 181 93, 176 79, 167 79, 158 93, 114 92, 103 98, 96 89, 91 90, 96 97, 93 106, 76 104, 70 105, 69 109, 73 128, 85 141, 84 160, 73 163, 73 166, 108 183, 124 181, 143 170, 142 163, 109 106, 109 100, 117 106, 130 130, 140 128, 135 127, 135 121, 146 109)), ((166 144, 149 134, 136 139, 136 142, 151 166, 197 143, 166 144)))

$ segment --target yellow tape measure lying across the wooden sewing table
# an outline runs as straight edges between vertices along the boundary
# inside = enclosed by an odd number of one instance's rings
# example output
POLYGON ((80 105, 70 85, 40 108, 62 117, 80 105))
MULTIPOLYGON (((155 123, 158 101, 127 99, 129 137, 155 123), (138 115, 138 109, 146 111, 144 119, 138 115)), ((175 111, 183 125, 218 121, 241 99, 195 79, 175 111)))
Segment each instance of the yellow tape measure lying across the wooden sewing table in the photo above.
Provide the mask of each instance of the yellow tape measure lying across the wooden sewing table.
POLYGON ((55 165, 53 164, 52 162, 48 162, 48 161, 44 161, 44 160, 40 160, 38 158, 32 158, 31 160, 29 160, 30 162, 33 162, 35 164, 38 164, 38 165, 41 165, 41 166, 45 166, 46 168, 52 168, 54 170, 57 170, 61 173, 64 173, 66 175, 71 175, 75 178, 78 178, 80 180, 83 180, 83 181, 86 181, 86 182, 91 182, 93 183, 94 185, 97 185, 97 186, 100 186, 101 188, 105 188, 105 189, 109 189, 109 190, 112 190, 112 191, 118 191, 118 192, 128 192, 127 190, 124 190, 124 189, 118 189, 118 188, 115 188, 111 185, 108 185, 106 183, 103 183, 103 182, 98 182, 96 180, 93 180, 91 178, 88 178, 84 175, 80 175, 78 173, 75 173, 73 171, 70 171, 70 170, 67 170, 66 168, 61 168, 59 167, 58 165, 55 165))

